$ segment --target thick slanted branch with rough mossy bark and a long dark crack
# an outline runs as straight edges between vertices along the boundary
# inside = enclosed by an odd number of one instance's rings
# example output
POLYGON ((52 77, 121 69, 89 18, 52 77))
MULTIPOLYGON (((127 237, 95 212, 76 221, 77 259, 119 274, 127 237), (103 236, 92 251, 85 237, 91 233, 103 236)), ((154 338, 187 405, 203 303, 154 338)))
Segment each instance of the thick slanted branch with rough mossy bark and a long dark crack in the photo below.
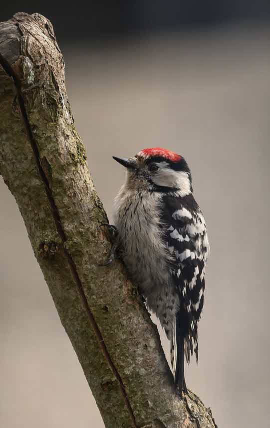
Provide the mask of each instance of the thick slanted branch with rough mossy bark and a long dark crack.
MULTIPOLYGON (((90 153, 91 155, 91 153, 90 153)), ((0 23, 0 173, 107 428, 215 426, 192 392, 181 401, 157 328, 120 262, 76 131, 51 23, 0 23)))

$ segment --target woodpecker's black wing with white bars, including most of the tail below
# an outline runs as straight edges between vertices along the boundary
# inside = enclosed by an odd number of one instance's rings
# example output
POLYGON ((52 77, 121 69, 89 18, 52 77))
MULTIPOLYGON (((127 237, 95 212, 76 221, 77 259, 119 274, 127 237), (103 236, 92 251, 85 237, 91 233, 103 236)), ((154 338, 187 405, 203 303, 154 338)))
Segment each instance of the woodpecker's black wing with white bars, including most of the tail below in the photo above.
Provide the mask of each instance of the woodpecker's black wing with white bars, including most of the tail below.
POLYGON ((193 352, 198 361, 197 324, 204 304, 205 264, 210 247, 205 220, 193 195, 178 198, 167 195, 164 198, 163 221, 167 229, 166 244, 172 257, 172 284, 180 300, 173 322, 171 359, 175 376, 180 370, 179 375, 184 377, 183 352, 187 362, 193 352))

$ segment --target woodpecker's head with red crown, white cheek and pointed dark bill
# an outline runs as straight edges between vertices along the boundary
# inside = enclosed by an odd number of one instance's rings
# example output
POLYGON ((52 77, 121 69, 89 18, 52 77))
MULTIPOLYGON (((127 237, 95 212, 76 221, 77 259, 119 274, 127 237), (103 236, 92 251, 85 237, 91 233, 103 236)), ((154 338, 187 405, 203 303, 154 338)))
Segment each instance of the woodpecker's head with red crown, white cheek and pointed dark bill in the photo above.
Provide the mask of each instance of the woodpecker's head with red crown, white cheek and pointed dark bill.
POLYGON ((191 172, 184 157, 161 147, 145 148, 134 157, 113 158, 127 168, 126 186, 130 190, 193 191, 191 172))

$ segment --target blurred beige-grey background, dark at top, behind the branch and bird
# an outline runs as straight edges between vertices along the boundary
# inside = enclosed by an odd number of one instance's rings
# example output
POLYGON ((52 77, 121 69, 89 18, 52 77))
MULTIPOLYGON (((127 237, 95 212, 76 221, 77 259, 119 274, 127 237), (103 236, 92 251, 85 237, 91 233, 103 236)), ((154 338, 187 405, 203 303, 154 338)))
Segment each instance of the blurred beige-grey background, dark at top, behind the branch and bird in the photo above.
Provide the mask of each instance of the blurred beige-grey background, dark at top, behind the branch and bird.
MULTIPOLYGON (((0 19, 21 9, 2 4, 0 19)), ((54 25, 109 216, 124 179, 112 155, 164 146, 187 158, 212 247, 187 383, 220 428, 268 426, 270 2, 26 0, 23 11, 54 25)), ((104 427, 2 179, 0 294, 0 426, 104 427)))

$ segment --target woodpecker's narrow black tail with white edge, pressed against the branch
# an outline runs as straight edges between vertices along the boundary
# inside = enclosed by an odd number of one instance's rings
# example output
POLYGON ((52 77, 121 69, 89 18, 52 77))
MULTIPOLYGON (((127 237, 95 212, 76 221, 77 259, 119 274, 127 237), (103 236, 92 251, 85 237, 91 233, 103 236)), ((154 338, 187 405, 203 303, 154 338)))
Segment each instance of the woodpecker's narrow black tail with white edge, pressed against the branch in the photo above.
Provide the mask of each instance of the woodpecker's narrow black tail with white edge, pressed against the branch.
POLYGON ((182 391, 187 392, 184 373, 184 320, 181 313, 178 312, 173 320, 173 336, 171 340, 171 363, 174 374, 174 381, 179 390, 180 396, 182 391))

